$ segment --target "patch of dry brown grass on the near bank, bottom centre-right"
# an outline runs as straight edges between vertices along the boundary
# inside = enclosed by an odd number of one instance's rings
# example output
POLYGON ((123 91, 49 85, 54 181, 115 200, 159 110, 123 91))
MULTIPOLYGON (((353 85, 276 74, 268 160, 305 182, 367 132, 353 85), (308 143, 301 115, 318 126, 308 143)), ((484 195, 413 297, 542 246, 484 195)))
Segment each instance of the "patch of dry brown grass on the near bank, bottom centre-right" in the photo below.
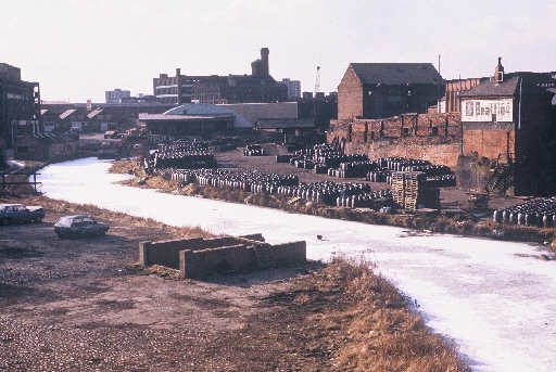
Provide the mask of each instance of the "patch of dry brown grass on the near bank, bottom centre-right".
POLYGON ((334 371, 469 371, 455 346, 433 334, 407 300, 366 261, 334 259, 299 281, 294 303, 339 306, 308 317, 327 336, 334 371))

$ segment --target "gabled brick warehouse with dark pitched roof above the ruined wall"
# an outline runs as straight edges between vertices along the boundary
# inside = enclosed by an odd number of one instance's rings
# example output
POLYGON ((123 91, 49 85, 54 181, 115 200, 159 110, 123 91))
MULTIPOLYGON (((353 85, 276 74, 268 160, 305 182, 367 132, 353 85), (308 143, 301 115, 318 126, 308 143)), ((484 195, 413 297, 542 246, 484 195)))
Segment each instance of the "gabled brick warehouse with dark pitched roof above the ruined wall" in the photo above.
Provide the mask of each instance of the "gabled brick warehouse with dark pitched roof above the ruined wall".
POLYGON ((430 63, 351 63, 338 87, 338 118, 426 113, 444 93, 430 63))

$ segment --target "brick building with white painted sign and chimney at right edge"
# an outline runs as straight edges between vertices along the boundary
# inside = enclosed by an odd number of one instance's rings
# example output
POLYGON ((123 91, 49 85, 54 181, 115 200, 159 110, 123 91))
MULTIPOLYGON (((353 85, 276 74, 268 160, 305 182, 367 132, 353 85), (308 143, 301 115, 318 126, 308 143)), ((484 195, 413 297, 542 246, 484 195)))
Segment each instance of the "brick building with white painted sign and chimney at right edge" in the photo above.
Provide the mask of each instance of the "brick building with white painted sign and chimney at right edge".
POLYGON ((556 191, 554 73, 505 74, 501 59, 494 77, 459 93, 463 155, 513 167, 517 194, 556 191))

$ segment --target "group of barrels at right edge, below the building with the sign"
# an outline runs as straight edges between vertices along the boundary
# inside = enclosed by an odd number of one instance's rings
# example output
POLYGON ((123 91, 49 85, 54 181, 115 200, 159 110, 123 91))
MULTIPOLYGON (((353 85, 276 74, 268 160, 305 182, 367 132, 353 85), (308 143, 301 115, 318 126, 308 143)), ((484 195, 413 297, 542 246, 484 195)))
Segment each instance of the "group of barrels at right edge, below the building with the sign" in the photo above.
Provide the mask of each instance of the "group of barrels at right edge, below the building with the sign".
POLYGON ((535 198, 509 208, 494 210, 493 220, 500 223, 556 227, 556 196, 535 198))

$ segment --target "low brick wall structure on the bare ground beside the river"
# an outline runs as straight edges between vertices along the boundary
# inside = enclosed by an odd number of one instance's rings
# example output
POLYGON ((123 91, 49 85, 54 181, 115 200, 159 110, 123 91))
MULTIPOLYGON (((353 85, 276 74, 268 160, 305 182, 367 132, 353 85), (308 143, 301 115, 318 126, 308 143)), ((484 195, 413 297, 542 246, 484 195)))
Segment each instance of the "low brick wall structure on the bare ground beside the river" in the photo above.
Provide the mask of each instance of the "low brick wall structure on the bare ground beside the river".
POLYGON ((214 239, 181 239, 139 243, 139 264, 179 269, 184 278, 300 265, 306 260, 305 242, 264 243, 262 234, 214 239))

